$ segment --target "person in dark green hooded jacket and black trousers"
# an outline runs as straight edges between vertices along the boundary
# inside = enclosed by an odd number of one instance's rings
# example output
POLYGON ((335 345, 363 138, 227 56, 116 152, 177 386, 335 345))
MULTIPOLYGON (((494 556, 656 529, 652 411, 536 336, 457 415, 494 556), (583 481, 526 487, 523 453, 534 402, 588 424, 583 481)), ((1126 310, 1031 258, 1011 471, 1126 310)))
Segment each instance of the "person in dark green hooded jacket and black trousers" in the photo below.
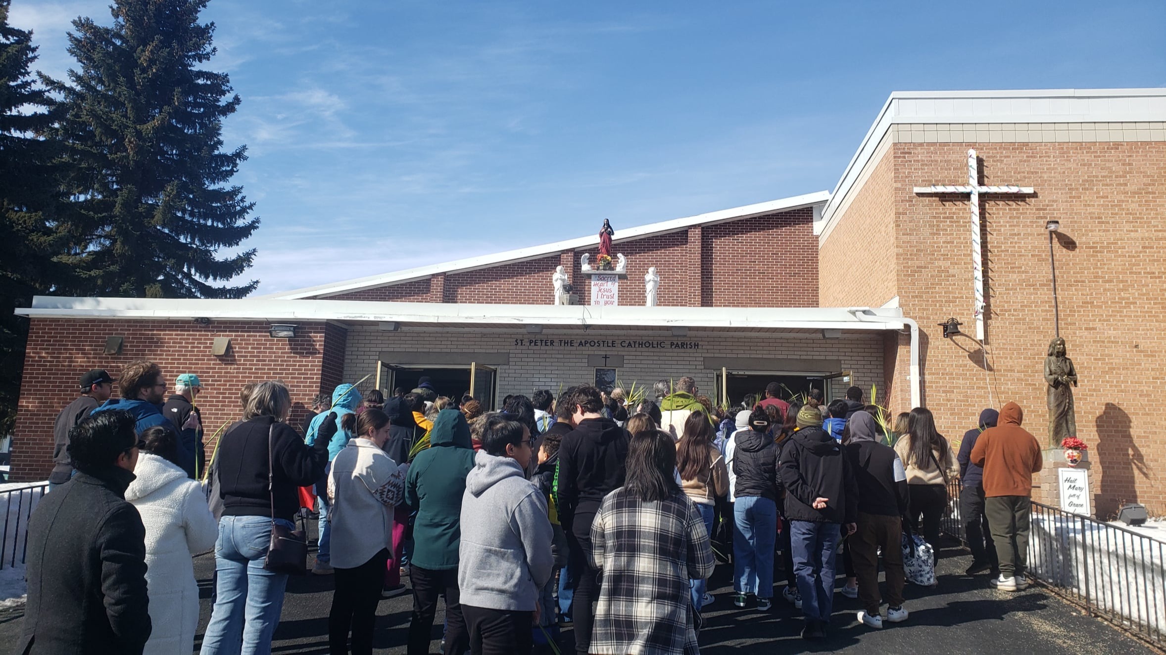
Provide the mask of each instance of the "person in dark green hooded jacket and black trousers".
POLYGON ((470 649, 470 633, 462 617, 457 589, 457 551, 462 537, 462 495, 473 469, 473 445, 465 415, 443 409, 429 432, 429 448, 413 458, 405 479, 405 502, 415 507, 413 558, 413 617, 409 655, 429 653, 437 597, 445 597, 445 653, 470 649))

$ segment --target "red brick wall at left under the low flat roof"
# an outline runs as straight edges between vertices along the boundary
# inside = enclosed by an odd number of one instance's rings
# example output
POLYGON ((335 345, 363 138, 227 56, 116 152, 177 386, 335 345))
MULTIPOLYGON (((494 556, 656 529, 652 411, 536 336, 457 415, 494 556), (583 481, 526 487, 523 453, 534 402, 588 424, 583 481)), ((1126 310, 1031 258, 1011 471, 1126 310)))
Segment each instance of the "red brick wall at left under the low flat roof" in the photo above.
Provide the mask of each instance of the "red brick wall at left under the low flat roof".
MULTIPOLYGON (((91 368, 114 378, 138 359, 156 361, 174 390, 180 373, 196 373, 204 388, 196 400, 206 441, 240 414, 239 389, 247 382, 280 379, 292 392, 290 423, 297 429, 311 397, 331 392, 344 366, 345 330, 301 323, 294 339, 273 339, 266 323, 34 318, 24 358, 12 450, 14 480, 43 480, 52 469, 52 423, 77 395, 77 380, 91 368), (105 339, 125 337, 121 354, 104 355, 105 339), (211 354, 215 337, 231 337, 226 355, 211 354), (322 368, 322 362, 328 361, 322 368)), ((117 396, 117 387, 114 387, 117 396)), ((215 444, 206 444, 208 453, 215 444)))

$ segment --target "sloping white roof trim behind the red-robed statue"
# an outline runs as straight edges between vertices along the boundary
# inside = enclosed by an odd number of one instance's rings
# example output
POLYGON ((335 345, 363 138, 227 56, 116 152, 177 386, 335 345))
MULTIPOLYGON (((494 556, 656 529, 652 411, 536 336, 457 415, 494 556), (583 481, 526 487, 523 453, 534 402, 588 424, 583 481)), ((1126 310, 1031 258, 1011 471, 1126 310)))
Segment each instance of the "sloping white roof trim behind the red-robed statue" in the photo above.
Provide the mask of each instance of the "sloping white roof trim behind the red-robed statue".
MULTIPOLYGON (((677 230, 684 230, 694 225, 714 225, 717 223, 725 223, 753 216, 764 216, 767 213, 788 211, 806 206, 821 206, 824 205, 829 199, 830 199, 829 191, 817 191, 815 193, 806 193, 802 196, 793 196, 789 198, 768 200, 765 203, 757 203, 753 205, 719 210, 709 213, 690 216, 686 218, 666 220, 662 223, 652 223, 649 225, 641 225, 639 227, 626 227, 616 232, 614 242, 620 244, 625 241, 632 241, 635 239, 642 239, 645 237, 652 237, 655 234, 675 232, 677 230)), ((817 211, 814 212, 814 218, 817 219, 817 211)), ((438 273, 447 273, 447 274, 464 273, 468 270, 476 270, 479 268, 487 268, 491 266, 499 266, 503 263, 514 263, 519 261, 540 259, 553 255, 562 251, 593 248, 598 244, 599 244, 599 237, 598 234, 593 234, 591 237, 568 239, 566 241, 556 241, 554 244, 545 244, 541 246, 519 248, 517 251, 506 251, 503 253, 494 253, 490 255, 479 255, 479 256, 450 261, 445 263, 435 263, 429 266, 409 268, 406 270, 396 270, 393 273, 373 275, 370 277, 359 277, 356 280, 346 280, 344 282, 332 282, 329 284, 321 284, 317 287, 307 287, 303 289, 295 289, 292 291, 280 291, 278 294, 255 296, 255 300, 276 300, 276 298, 297 300, 308 297, 335 296, 351 291, 359 291, 360 289, 370 289, 373 287, 382 287, 386 284, 400 284, 402 282, 421 280, 438 273)))

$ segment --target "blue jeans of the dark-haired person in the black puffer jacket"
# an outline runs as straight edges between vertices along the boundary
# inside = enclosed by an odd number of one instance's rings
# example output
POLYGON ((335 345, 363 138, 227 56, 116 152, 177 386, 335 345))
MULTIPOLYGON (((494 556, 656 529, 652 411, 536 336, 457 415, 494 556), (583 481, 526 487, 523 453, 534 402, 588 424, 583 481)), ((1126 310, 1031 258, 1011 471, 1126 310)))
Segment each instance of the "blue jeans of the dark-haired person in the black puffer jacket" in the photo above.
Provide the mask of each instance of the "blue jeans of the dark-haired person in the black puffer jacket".
POLYGON ((732 531, 733 590, 773 598, 778 503, 758 495, 738 495, 732 514, 736 523, 732 531))

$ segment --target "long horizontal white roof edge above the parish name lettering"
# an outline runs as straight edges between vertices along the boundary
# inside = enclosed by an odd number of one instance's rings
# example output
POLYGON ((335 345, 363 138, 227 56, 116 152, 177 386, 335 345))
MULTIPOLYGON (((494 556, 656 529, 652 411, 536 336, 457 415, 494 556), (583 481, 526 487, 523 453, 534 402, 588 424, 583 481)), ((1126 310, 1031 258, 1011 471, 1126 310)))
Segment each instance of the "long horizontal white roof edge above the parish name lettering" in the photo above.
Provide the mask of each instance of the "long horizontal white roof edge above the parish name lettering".
POLYGON ((902 310, 866 308, 590 307, 316 300, 75 298, 35 296, 31 318, 399 322, 451 325, 785 328, 901 330, 902 310), (856 316, 863 309, 863 316, 856 316))

